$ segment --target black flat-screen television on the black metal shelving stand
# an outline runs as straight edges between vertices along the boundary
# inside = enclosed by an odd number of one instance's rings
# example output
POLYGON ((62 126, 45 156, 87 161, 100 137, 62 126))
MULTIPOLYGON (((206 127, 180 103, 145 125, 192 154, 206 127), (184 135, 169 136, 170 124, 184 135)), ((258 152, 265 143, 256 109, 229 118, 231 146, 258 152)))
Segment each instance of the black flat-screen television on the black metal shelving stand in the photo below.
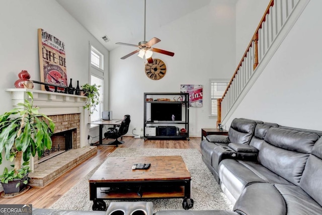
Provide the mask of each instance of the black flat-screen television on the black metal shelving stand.
POLYGON ((182 121, 182 104, 151 103, 151 121, 182 121), (174 120, 173 120, 174 115, 174 120))

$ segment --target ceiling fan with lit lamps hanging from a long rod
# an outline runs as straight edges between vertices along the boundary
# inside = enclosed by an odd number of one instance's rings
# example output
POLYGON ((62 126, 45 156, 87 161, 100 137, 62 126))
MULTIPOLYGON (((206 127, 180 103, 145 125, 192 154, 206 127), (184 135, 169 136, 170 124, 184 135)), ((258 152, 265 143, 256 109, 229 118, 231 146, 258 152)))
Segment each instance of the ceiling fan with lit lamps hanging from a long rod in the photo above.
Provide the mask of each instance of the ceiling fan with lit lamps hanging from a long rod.
POLYGON ((116 44, 119 44, 119 45, 135 46, 135 47, 139 48, 139 49, 137 49, 137 50, 135 50, 135 51, 133 51, 133 52, 121 57, 121 59, 126 59, 129 56, 132 56, 133 54, 139 52, 139 54, 138 54, 139 57, 141 57, 142 59, 143 59, 143 57, 145 57, 145 59, 147 59, 148 63, 153 63, 153 59, 152 59, 153 51, 161 53, 161 54, 166 54, 166 55, 169 55, 169 56, 174 56, 175 55, 174 52, 170 52, 170 51, 166 51, 166 50, 162 50, 162 49, 152 47, 152 45, 160 42, 161 41, 160 39, 158 39, 156 37, 153 37, 148 42, 145 41, 145 22, 146 22, 146 0, 144 0, 144 41, 139 42, 138 45, 117 42, 116 44))

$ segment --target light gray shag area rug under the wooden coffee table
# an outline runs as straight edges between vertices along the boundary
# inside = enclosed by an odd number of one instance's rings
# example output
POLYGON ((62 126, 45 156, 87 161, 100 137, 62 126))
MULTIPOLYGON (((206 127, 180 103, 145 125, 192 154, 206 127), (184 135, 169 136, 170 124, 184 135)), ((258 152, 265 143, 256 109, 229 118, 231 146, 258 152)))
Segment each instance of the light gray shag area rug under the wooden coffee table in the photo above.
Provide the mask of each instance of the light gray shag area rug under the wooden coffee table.
MULTIPOLYGON (((201 154, 196 149, 133 149, 118 148, 109 157, 141 156, 181 156, 191 174, 191 198, 193 210, 224 209, 232 210, 232 204, 221 191, 218 183, 203 163, 201 154)), ((101 165, 101 164, 100 164, 101 165)), ((51 209, 92 210, 88 179, 100 166, 93 169, 84 179, 75 184, 69 191, 51 205, 51 209)), ((141 199, 138 199, 141 200, 141 199)), ((183 199, 145 199, 153 202, 153 210, 182 210, 183 199)), ((106 200, 107 205, 109 200, 106 200)))

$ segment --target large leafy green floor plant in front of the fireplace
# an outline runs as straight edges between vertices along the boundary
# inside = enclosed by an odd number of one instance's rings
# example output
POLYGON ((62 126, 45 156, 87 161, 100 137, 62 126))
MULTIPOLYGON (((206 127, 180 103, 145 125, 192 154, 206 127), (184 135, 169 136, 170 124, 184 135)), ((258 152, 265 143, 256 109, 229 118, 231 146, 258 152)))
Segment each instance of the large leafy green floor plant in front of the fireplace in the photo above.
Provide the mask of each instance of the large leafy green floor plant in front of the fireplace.
MULTIPOLYGON (((13 170, 4 169, 0 176, 0 182, 8 184, 11 181, 17 182, 16 187, 27 184, 29 172, 28 161, 31 156, 41 157, 46 149, 51 149, 51 134, 54 131, 55 123, 45 114, 38 112, 33 106, 33 95, 27 92, 31 98, 24 103, 18 103, 20 108, 14 108, 3 115, 0 115, 0 164, 2 164, 2 153, 5 152, 5 159, 13 162, 13 170), (22 160, 24 163, 22 163, 22 160), (26 163, 27 162, 27 163, 26 163), (21 183, 23 182, 23 183, 21 183)), ((6 186, 3 186, 4 189, 6 186)), ((5 190, 5 193, 10 193, 5 190)))

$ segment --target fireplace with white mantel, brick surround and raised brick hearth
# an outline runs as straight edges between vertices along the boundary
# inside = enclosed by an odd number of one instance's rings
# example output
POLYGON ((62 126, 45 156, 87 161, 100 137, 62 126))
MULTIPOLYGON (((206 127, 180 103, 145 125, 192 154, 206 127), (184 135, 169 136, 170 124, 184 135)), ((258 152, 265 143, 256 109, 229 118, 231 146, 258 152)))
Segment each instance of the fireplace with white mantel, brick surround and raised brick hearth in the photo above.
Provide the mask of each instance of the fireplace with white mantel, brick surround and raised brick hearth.
POLYGON ((34 106, 39 107, 39 113, 46 114, 55 122, 54 133, 73 130, 71 150, 39 164, 37 156, 31 159, 33 172, 29 174, 30 185, 44 187, 97 152, 96 147, 90 147, 86 142, 88 119, 85 117, 83 106, 87 97, 32 89, 6 91, 11 93, 13 107, 17 107, 17 104, 25 99, 30 100, 26 92, 31 92, 34 106))

